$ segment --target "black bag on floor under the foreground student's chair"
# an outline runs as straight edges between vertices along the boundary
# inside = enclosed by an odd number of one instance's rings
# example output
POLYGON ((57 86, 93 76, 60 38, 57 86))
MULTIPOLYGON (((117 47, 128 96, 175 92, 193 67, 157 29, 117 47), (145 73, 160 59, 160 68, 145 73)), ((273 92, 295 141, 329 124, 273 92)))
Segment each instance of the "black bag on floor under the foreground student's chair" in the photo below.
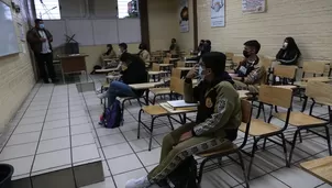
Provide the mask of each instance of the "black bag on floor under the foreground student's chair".
POLYGON ((199 188, 197 184, 197 162, 193 156, 186 158, 168 175, 168 186, 171 188, 199 188))

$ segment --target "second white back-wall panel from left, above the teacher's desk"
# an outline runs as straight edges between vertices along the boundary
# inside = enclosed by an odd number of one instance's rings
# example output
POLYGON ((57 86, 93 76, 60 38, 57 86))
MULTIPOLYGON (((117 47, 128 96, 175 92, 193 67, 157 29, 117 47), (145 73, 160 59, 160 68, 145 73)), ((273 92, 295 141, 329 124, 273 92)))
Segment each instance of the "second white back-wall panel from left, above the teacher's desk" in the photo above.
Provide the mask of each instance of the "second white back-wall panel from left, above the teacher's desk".
POLYGON ((67 20, 67 35, 75 34, 74 40, 80 45, 93 45, 92 20, 67 20))

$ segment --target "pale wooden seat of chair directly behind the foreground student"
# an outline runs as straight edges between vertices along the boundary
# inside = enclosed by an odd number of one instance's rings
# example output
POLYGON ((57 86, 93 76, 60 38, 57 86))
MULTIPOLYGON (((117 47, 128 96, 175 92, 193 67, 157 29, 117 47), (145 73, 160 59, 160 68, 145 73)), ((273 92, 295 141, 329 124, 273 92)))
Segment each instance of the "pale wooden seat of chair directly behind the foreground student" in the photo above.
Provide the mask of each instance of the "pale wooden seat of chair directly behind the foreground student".
MULTIPOLYGON (((246 129, 246 124, 245 123, 241 123, 239 130, 242 132, 245 132, 246 129)), ((251 129, 248 134, 251 136, 262 136, 262 135, 266 135, 266 134, 270 134, 277 131, 280 131, 281 128, 276 126, 274 124, 270 123, 266 123, 262 120, 257 120, 257 119, 253 119, 251 122, 251 129)))

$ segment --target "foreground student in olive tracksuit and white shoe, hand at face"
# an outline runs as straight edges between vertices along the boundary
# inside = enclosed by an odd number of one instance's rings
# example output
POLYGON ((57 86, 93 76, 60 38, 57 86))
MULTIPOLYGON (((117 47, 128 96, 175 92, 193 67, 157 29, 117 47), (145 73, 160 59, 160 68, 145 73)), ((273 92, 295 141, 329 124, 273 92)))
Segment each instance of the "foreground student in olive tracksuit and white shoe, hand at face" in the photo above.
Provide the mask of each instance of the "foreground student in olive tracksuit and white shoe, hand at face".
POLYGON ((185 124, 167 134, 163 140, 159 165, 147 176, 129 180, 125 188, 145 188, 163 181, 187 157, 206 151, 230 146, 237 136, 241 124, 239 93, 225 68, 225 55, 218 52, 204 54, 202 74, 204 80, 192 89, 197 67, 186 76, 185 100, 198 102, 195 123, 185 124))

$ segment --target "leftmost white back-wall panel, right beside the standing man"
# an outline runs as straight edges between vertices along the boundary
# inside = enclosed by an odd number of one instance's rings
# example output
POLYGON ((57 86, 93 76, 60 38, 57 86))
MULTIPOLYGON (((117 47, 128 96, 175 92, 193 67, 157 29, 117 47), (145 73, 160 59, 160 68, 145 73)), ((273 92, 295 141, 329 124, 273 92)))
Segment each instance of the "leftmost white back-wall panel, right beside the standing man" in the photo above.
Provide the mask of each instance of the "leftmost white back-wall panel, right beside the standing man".
POLYGON ((66 22, 64 20, 45 20, 44 24, 53 35, 53 47, 58 47, 66 43, 66 22))

